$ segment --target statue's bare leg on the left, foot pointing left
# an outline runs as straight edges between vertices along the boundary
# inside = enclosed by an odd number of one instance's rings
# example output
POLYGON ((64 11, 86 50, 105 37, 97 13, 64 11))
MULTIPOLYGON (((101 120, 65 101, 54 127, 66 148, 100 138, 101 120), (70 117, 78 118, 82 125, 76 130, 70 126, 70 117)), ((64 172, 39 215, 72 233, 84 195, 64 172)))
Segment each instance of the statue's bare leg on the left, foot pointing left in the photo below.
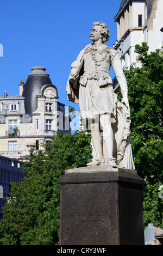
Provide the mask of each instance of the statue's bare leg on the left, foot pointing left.
POLYGON ((101 136, 101 131, 99 130, 99 125, 97 123, 92 123, 90 127, 93 148, 96 152, 96 159, 93 160, 91 163, 87 163, 87 166, 103 165, 105 160, 103 157, 103 140, 101 136))

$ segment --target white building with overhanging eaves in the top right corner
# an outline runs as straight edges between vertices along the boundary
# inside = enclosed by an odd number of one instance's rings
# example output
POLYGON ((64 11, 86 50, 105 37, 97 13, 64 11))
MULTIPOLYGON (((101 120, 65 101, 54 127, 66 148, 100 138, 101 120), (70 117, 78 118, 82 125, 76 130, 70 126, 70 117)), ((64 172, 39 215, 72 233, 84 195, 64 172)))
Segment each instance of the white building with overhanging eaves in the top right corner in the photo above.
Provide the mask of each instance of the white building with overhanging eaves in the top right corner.
POLYGON ((162 46, 162 0, 122 0, 114 20, 117 22, 115 50, 124 69, 141 66, 135 45, 146 42, 149 53, 162 46))

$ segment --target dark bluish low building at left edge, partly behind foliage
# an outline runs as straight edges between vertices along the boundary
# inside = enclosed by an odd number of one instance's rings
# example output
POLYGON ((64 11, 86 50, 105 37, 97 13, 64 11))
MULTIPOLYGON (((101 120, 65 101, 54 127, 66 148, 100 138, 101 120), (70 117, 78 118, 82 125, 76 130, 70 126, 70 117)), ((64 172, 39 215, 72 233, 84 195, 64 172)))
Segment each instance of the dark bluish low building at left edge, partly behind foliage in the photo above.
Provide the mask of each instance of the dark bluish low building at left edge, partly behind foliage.
POLYGON ((11 193, 10 182, 21 182, 23 179, 23 172, 20 169, 22 165, 22 161, 0 156, 0 220, 3 218, 4 198, 9 199, 11 193))

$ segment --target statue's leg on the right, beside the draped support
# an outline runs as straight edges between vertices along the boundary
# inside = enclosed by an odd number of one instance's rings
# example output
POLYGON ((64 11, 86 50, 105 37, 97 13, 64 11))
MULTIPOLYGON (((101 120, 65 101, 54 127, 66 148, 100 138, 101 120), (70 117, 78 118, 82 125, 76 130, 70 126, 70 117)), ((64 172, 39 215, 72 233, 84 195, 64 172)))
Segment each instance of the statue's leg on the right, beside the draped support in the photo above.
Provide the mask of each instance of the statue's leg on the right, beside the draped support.
POLYGON ((116 167, 115 159, 113 158, 113 143, 114 143, 114 133, 111 127, 111 114, 102 114, 100 116, 100 125, 102 129, 102 136, 105 142, 107 162, 109 166, 116 167))

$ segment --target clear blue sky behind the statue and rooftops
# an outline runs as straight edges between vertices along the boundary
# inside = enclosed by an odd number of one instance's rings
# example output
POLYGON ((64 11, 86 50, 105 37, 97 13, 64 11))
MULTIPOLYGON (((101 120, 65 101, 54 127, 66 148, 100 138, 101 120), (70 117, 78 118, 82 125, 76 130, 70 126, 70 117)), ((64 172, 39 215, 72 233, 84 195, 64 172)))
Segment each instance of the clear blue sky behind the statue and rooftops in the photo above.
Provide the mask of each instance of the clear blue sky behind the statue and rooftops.
MULTIPOLYGON (((114 17, 121 0, 0 0, 0 95, 19 94, 33 66, 43 66, 58 89, 59 101, 67 100, 66 84, 71 63, 91 44, 93 22, 108 25, 112 47, 117 29, 114 17)), ((110 70, 110 76, 115 76, 110 70)))

